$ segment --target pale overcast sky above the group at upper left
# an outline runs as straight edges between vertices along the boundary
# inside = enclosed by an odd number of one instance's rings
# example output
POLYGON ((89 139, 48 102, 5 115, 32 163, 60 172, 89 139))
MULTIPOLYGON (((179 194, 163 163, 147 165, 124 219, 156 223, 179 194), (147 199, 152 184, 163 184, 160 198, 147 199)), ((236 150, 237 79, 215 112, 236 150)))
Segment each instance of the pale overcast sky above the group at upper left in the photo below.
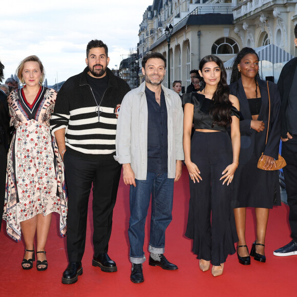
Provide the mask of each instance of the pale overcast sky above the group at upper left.
POLYGON ((116 69, 136 49, 142 15, 153 0, 6 0, 1 3, 0 60, 5 79, 21 60, 37 55, 48 84, 66 80, 86 67, 86 47, 101 39, 116 69))

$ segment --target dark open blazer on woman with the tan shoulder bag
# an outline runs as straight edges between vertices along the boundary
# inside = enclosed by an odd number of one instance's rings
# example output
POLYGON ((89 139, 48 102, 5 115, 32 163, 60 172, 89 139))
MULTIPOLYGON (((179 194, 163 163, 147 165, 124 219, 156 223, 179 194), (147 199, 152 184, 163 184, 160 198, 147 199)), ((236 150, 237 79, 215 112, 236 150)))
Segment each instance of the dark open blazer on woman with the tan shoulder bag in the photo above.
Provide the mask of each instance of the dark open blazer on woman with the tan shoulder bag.
POLYGON ((262 97, 262 105, 259 113, 258 120, 265 123, 264 131, 260 132, 260 140, 255 143, 255 135, 258 132, 250 128, 250 121, 252 120, 248 99, 246 98, 242 81, 239 79, 237 82, 230 84, 230 94, 235 95, 239 99, 240 111, 243 115, 244 120, 240 121, 240 134, 241 134, 241 148, 239 155, 239 163, 245 164, 251 159, 253 151, 255 151, 257 158, 260 158, 261 154, 273 157, 274 159, 279 158, 279 144, 281 136, 281 123, 280 123, 280 94, 278 91, 277 84, 268 82, 269 94, 270 94, 270 124, 268 131, 268 140, 265 146, 268 116, 269 116, 269 100, 268 100, 268 89, 267 82, 265 80, 258 80, 259 88, 262 97))

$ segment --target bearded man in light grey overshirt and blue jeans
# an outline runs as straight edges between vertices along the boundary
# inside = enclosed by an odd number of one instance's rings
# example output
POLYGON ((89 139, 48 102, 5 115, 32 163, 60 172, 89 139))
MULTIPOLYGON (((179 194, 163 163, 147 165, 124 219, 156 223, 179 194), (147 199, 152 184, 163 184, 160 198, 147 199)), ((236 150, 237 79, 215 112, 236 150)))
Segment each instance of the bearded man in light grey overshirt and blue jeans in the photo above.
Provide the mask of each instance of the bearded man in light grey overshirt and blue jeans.
POLYGON ((149 53, 142 59, 145 81, 122 101, 116 133, 115 159, 123 164, 130 185, 131 281, 142 283, 144 225, 152 195, 149 265, 178 267, 163 255, 165 230, 172 220, 174 181, 181 177, 183 111, 177 93, 162 86, 166 59, 149 53))

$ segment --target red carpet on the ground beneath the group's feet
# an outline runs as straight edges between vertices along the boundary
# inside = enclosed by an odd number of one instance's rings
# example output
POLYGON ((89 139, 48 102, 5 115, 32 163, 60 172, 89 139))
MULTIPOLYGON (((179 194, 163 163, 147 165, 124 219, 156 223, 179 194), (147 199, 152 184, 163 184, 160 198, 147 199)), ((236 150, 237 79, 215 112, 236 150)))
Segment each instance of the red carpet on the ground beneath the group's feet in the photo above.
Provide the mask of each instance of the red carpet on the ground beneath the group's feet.
MULTIPOLYGON (((251 259, 251 265, 238 263, 237 256, 229 256, 224 274, 214 278, 210 271, 202 272, 198 260, 191 252, 192 242, 184 237, 188 211, 188 175, 175 184, 173 221, 166 232, 165 256, 178 265, 175 271, 143 265, 144 283, 130 281, 129 262, 129 187, 120 183, 109 255, 116 261, 118 272, 105 273, 91 264, 92 215, 89 213, 86 251, 82 259, 83 274, 73 285, 61 284, 63 270, 67 267, 66 238, 58 236, 58 217, 53 216, 47 243, 49 268, 37 271, 36 262, 31 270, 23 270, 24 243, 15 243, 6 235, 5 222, 0 232, 0 296, 297 296, 297 257, 274 257, 274 249, 288 243, 288 207, 282 204, 270 211, 266 236, 265 264, 251 259)), ((90 199, 91 202, 91 199, 90 199)), ((90 204, 91 205, 91 204, 90 204)), ((91 208, 89 208, 91 209, 91 208)), ((149 220, 148 220, 149 221, 149 220)), ((146 224, 145 256, 148 259, 146 224)), ((255 239, 254 216, 247 212, 247 242, 250 249, 255 239)))

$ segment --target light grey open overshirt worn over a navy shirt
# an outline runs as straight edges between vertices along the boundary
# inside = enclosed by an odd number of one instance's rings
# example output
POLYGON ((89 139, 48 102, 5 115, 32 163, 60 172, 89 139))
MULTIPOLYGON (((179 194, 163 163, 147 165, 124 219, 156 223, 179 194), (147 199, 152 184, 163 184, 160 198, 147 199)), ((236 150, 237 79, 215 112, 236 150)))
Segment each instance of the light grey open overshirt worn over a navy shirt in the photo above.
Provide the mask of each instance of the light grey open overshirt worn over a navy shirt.
MULTIPOLYGON (((179 95, 162 86, 167 108, 168 178, 175 178, 176 160, 183 160, 183 111, 179 95)), ((115 160, 131 163, 135 178, 145 180, 147 173, 147 103, 145 81, 128 92, 121 103, 116 133, 115 160)))

